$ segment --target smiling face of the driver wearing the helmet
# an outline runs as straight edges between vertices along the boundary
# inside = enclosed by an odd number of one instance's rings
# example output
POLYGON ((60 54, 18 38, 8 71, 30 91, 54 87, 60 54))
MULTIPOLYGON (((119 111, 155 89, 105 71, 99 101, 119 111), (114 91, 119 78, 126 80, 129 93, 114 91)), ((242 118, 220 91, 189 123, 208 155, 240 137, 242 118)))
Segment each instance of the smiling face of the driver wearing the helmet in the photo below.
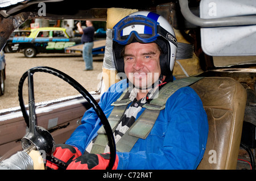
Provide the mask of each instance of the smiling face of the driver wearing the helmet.
POLYGON ((161 73, 160 50, 155 43, 131 43, 125 46, 125 74, 135 87, 150 88, 161 73))

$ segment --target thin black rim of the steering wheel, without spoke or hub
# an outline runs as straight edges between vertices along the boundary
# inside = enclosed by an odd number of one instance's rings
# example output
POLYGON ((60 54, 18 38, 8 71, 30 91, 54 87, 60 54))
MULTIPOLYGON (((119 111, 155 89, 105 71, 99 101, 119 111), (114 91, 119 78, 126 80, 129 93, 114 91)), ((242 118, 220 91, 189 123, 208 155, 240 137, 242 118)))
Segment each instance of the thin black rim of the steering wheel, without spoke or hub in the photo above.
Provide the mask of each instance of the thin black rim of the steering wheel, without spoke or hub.
POLYGON ((97 113, 98 117, 101 120, 103 127, 105 128, 106 135, 107 135, 108 141, 109 141, 109 146, 110 146, 109 165, 108 165, 108 167, 106 167, 106 169, 107 170, 112 169, 112 167, 114 166, 114 162, 115 162, 116 149, 115 149, 115 141, 114 141, 112 128, 110 127, 109 121, 106 118, 105 113, 102 111, 101 107, 98 105, 98 103, 93 98, 93 96, 90 95, 90 93, 84 87, 82 87, 79 82, 77 82, 75 79, 73 79, 72 77, 63 73, 60 70, 50 68, 48 66, 36 66, 34 68, 27 70, 20 78, 19 86, 18 86, 19 106, 20 106, 20 110, 22 111, 24 120, 27 124, 27 127, 28 128, 30 127, 29 116, 28 116, 26 107, 24 105, 22 90, 23 90, 23 83, 24 83, 25 79, 28 77, 28 71, 30 71, 31 73, 44 72, 44 73, 53 74, 56 77, 59 77, 59 78, 63 79, 65 82, 69 83, 69 85, 74 87, 77 91, 79 91, 79 93, 82 96, 84 96, 84 98, 88 101, 90 106, 92 106, 94 111, 97 113))

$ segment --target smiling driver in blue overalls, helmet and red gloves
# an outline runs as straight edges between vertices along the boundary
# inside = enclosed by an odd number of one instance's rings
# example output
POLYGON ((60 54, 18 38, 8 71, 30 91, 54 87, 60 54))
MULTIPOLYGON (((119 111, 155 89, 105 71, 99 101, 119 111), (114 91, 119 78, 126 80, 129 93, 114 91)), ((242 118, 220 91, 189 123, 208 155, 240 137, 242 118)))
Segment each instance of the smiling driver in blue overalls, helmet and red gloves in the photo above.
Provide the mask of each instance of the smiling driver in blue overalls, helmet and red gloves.
MULTIPOLYGON (((196 92, 181 87, 164 100, 163 107, 148 109, 175 82, 172 69, 177 43, 172 27, 162 16, 141 11, 122 19, 113 31, 115 66, 127 78, 110 86, 98 103, 109 120, 115 117, 112 114, 119 117, 113 129, 117 145, 113 169, 196 169, 208 136, 207 115, 196 92), (121 113, 114 111, 117 107, 121 113)), ((53 155, 67 163, 67 169, 106 169, 110 149, 107 142, 102 144, 101 127, 90 108, 53 155)), ((47 167, 58 169, 51 162, 47 167)))

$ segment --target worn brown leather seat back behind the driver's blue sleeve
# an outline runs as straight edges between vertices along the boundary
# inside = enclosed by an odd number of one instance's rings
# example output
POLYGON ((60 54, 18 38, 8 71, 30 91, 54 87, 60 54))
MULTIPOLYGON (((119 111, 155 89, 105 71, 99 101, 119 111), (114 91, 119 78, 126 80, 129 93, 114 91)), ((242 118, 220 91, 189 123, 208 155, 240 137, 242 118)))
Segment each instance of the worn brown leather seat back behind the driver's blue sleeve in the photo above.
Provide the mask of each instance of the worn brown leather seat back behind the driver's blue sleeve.
POLYGON ((233 78, 203 78, 191 86, 208 115, 209 133, 197 169, 236 169, 242 134, 246 91, 233 78))

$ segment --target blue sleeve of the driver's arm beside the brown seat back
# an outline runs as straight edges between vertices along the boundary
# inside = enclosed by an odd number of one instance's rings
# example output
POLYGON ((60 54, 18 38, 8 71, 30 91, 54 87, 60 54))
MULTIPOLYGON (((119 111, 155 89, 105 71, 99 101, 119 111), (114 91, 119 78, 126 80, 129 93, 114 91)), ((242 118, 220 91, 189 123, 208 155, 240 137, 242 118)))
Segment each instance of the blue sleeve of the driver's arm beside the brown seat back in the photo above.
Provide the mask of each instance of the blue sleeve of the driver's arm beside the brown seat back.
POLYGON ((203 158, 208 121, 201 99, 190 87, 176 91, 152 131, 130 153, 117 153, 117 169, 196 169, 203 158))

